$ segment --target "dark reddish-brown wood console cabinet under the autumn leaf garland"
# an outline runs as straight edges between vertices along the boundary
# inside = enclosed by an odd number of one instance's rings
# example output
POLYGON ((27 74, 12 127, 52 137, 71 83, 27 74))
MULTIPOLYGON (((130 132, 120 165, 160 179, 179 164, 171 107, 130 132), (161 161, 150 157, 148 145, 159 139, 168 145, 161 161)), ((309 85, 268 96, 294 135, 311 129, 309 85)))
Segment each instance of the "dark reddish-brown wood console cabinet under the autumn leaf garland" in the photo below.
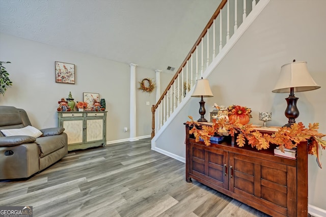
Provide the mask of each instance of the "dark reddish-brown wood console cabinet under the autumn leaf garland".
POLYGON ((274 155, 274 146, 256 150, 232 145, 227 137, 206 146, 186 131, 187 182, 192 178, 272 216, 308 216, 307 142, 297 158, 274 155))

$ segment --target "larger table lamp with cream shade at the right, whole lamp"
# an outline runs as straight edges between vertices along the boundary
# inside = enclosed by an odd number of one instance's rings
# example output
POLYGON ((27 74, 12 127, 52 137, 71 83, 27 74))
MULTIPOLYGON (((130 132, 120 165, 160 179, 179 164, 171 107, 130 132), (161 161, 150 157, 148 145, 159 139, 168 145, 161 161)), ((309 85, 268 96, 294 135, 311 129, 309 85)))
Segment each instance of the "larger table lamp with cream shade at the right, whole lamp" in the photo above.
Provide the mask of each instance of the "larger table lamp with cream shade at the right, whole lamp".
POLYGON ((294 91, 302 92, 318 88, 320 86, 316 84, 308 72, 307 62, 296 62, 294 59, 293 63, 285 64, 281 67, 279 80, 272 92, 290 92, 289 97, 285 99, 287 102, 285 116, 289 120, 283 127, 291 127, 295 123, 295 118, 299 116, 299 110, 296 107, 296 102, 299 98, 294 96, 294 91))

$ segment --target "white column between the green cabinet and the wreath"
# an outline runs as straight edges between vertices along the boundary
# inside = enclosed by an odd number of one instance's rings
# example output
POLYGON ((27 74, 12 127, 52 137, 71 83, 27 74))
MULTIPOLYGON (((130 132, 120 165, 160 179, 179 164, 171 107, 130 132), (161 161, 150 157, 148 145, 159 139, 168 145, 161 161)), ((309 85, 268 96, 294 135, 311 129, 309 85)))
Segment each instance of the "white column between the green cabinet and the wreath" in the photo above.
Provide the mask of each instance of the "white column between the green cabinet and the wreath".
POLYGON ((129 141, 137 141, 136 138, 136 64, 130 66, 130 138, 129 141))

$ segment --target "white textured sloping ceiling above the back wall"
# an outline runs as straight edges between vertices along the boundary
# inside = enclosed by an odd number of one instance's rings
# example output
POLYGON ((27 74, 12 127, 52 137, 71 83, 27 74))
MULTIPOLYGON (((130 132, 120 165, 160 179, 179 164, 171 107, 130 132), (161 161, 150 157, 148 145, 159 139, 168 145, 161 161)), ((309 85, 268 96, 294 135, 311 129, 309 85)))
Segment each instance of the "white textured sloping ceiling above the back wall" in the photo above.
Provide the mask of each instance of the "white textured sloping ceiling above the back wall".
POLYGON ((180 66, 220 2, 0 0, 0 32, 166 71, 180 66))

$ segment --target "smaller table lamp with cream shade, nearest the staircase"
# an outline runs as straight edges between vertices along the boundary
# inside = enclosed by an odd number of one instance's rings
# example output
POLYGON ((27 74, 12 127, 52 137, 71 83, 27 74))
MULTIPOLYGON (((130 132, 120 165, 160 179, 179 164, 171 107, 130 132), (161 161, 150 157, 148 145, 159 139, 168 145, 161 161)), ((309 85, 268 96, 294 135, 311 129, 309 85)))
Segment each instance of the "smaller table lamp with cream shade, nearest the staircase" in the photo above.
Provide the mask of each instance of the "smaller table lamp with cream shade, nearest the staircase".
POLYGON ((206 110, 205 110, 205 102, 203 100, 203 97, 213 97, 213 94, 212 94, 212 91, 210 90, 209 82, 207 79, 201 78, 201 79, 196 80, 195 90, 193 92, 192 97, 201 97, 201 101, 199 102, 200 118, 197 121, 198 122, 207 122, 207 120, 204 117, 206 110))

